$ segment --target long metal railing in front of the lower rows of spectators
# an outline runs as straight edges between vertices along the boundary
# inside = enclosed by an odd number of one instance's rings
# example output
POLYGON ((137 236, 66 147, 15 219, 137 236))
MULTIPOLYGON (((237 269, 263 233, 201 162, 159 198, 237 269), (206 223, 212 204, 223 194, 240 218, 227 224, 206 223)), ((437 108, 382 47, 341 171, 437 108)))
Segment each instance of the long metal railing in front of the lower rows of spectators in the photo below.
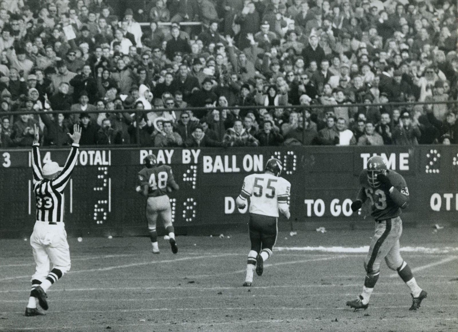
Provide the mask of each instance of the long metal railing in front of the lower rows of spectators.
MULTIPOLYGON (((187 108, 174 108, 174 109, 167 109, 167 108, 161 108, 161 109, 115 109, 115 110, 95 110, 90 112, 91 114, 99 114, 99 113, 105 113, 105 114, 116 114, 116 113, 135 113, 133 121, 136 121, 136 144, 131 144, 130 146, 136 146, 140 147, 140 127, 139 123, 142 120, 142 117, 146 115, 147 113, 154 112, 154 113, 160 113, 160 112, 184 112, 186 110, 191 110, 191 111, 202 111, 206 110, 208 112, 212 112, 213 110, 218 110, 219 111, 219 136, 220 139, 223 139, 224 133, 226 132, 226 129, 224 128, 224 121, 225 119, 223 118, 223 110, 229 111, 232 109, 240 109, 240 110, 257 110, 257 109, 290 109, 290 110, 300 110, 300 113, 302 113, 303 119, 305 119, 305 111, 308 110, 310 113, 313 113, 315 109, 334 109, 334 108, 342 108, 342 107, 350 107, 350 108, 359 108, 359 107, 378 107, 378 106, 385 106, 385 107, 393 107, 394 109, 398 107, 403 107, 403 106, 414 106, 414 105, 427 105, 429 107, 433 107, 432 105, 436 104, 447 104, 447 105, 452 105, 455 108, 458 108, 458 101, 441 101, 441 102, 398 102, 398 103, 371 103, 371 104, 365 104, 365 103, 349 103, 349 104, 339 104, 339 105, 322 105, 322 104, 312 104, 312 105, 283 105, 283 106, 262 106, 262 105, 252 105, 252 106, 227 106, 227 107, 221 107, 221 106, 215 106, 215 107, 187 107, 187 108)), ((455 109, 455 112, 457 109, 455 109)), ((207 113, 208 113, 207 112, 207 113)), ((14 111, 14 112, 0 112, 0 118, 6 117, 6 116, 11 116, 11 115, 21 115, 21 114, 32 114, 32 115, 39 115, 39 114, 81 114, 84 112, 73 112, 73 111, 29 111, 29 112, 24 112, 24 111, 14 111)), ((206 117, 207 115, 205 115, 206 117)), ((55 117, 55 119, 57 119, 55 117)), ((306 128, 303 126, 303 132, 302 132, 302 141, 305 141, 305 136, 306 136, 306 128)), ((58 142, 59 143, 59 142, 58 142)), ((56 144, 58 146, 59 144, 56 144)), ((110 145, 113 146, 113 145, 110 145)), ((125 145, 124 145, 125 146, 125 145)))

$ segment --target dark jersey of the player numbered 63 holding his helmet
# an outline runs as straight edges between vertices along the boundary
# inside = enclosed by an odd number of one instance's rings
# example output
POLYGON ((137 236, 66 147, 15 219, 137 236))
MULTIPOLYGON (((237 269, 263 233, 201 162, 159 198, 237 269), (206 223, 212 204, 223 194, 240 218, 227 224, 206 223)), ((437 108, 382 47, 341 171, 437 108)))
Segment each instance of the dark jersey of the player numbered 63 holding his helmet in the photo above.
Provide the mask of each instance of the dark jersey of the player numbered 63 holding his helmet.
MULTIPOLYGON (((396 173, 393 170, 388 170, 387 177, 390 179, 394 188, 409 198, 409 189, 407 188, 407 184, 401 174, 396 173)), ((380 187, 371 187, 365 170, 363 170, 360 174, 360 185, 362 188, 358 197, 367 197, 369 199, 372 208, 371 216, 374 217, 375 220, 386 220, 396 218, 401 215, 402 210, 393 201, 388 189, 384 190, 380 187)), ((365 201, 364 198, 362 199, 363 202, 365 201)))

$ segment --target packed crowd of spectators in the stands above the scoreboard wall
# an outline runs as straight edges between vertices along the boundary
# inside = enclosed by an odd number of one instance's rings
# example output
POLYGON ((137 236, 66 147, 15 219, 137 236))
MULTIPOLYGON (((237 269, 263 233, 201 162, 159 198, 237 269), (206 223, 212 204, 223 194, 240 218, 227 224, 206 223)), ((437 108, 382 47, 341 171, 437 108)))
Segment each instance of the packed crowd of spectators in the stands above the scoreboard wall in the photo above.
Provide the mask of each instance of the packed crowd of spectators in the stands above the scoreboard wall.
POLYGON ((0 1, 0 147, 30 147, 34 124, 44 146, 73 124, 82 145, 457 144, 455 103, 373 105, 457 100, 456 17, 452 0, 0 1), (254 105, 279 107, 214 109, 254 105))

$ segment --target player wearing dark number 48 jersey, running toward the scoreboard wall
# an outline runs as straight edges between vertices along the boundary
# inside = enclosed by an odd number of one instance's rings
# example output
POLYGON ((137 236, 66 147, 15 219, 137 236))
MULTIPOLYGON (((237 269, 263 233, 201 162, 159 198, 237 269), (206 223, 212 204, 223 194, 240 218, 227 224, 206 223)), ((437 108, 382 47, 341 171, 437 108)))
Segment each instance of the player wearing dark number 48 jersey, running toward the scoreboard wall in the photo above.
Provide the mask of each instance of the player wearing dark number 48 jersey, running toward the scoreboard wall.
POLYGON ((159 253, 156 221, 158 220, 158 215, 160 215, 164 222, 165 230, 169 234, 172 252, 176 254, 178 246, 176 245, 175 230, 172 225, 172 208, 170 207, 170 199, 167 196, 167 192, 172 191, 172 189, 178 190, 180 187, 173 178, 171 167, 158 165, 156 156, 150 154, 145 158, 145 168, 138 172, 138 180, 140 180, 140 185, 136 187, 136 191, 148 197, 146 218, 149 237, 153 244, 153 253, 159 253))

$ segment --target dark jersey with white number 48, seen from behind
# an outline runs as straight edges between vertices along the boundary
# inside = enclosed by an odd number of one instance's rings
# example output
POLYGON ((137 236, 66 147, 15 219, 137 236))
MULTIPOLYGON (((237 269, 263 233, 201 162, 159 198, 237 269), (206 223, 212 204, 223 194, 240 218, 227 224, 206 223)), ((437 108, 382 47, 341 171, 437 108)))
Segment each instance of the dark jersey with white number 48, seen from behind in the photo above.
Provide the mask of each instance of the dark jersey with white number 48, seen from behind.
POLYGON ((148 185, 148 196, 156 197, 167 195, 167 185, 170 187, 176 186, 172 168, 167 165, 160 165, 153 168, 145 167, 138 172, 138 180, 140 185, 148 185))

